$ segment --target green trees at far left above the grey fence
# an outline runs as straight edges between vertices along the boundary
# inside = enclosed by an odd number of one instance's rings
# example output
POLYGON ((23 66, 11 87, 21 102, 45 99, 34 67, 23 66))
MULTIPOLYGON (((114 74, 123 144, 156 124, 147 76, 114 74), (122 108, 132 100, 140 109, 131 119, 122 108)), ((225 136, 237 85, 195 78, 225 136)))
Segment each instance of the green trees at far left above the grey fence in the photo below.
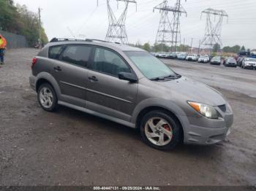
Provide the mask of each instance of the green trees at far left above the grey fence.
POLYGON ((0 0, 0 29, 25 36, 31 47, 38 44, 39 33, 42 43, 48 43, 45 29, 39 25, 38 15, 25 5, 15 5, 13 0, 0 0))

